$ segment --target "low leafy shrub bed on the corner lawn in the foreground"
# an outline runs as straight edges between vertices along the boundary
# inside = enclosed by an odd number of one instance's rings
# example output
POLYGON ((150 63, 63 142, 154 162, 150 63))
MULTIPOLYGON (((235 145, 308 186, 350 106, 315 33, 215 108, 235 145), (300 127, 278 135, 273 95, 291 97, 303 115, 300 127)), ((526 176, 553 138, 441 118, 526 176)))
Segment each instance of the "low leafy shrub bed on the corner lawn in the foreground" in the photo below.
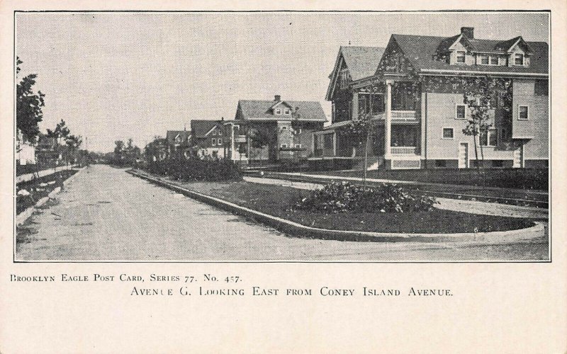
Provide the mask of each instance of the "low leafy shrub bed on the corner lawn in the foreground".
POLYGON ((412 212, 429 211, 437 201, 425 195, 415 195, 395 184, 382 183, 366 187, 348 182, 329 183, 313 190, 296 208, 313 212, 412 212))

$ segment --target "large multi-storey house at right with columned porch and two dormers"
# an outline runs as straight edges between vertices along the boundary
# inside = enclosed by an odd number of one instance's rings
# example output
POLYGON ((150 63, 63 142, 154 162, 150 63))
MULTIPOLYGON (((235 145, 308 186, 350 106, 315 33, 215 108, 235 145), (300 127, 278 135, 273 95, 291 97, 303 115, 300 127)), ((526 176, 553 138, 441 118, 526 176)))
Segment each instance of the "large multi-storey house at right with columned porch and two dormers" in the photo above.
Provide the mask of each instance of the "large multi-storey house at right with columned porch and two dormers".
POLYGON ((366 115, 370 169, 547 166, 548 70, 546 42, 479 39, 470 27, 449 38, 391 35, 385 49, 341 47, 326 97, 332 125, 314 133, 312 159, 360 162, 364 144, 342 132, 366 115), (490 129, 465 135, 464 98, 488 81, 490 129))

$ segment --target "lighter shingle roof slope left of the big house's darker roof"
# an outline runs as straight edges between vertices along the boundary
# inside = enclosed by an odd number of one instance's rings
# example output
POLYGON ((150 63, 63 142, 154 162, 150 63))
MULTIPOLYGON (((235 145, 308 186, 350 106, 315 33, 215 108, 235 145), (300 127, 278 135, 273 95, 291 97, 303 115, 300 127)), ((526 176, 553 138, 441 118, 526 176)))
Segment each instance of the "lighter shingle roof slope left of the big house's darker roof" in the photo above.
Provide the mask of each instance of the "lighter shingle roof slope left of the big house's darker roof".
POLYGON ((349 74, 354 81, 374 75, 386 48, 383 47, 340 47, 347 62, 349 74))

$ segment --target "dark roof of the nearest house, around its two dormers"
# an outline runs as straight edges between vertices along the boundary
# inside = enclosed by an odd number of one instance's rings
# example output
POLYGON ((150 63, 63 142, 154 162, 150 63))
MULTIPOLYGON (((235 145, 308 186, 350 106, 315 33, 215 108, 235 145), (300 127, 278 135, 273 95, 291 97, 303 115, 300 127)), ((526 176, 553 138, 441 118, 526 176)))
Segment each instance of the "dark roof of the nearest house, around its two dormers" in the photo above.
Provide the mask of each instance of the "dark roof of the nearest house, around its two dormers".
MULTIPOLYGON (((452 37, 451 37, 452 38, 452 37)), ((456 39, 456 37, 454 37, 456 39)), ((498 52, 505 53, 519 38, 512 40, 482 40, 468 39, 472 50, 476 52, 498 52), (507 47, 506 47, 507 46, 507 47)), ((395 40, 400 46, 400 50, 405 57, 410 60, 412 67, 417 71, 427 70, 455 70, 459 72, 497 72, 497 73, 534 73, 547 74, 548 72, 548 45, 546 42, 525 42, 532 52, 529 57, 529 67, 505 67, 498 65, 459 65, 447 64, 442 60, 434 59, 434 54, 442 49, 447 42, 446 37, 436 37, 428 35, 392 35, 391 40, 395 40)), ((451 43, 452 44, 452 43, 451 43)), ((449 44, 449 45, 451 45, 449 44)))

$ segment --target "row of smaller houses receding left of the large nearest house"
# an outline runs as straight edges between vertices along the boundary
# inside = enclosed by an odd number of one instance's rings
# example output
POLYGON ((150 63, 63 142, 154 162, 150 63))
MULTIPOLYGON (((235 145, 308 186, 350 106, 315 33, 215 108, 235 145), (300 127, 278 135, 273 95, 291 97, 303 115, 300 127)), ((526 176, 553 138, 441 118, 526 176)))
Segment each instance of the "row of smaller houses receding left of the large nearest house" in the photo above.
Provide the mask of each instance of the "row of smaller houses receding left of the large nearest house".
POLYGON ((234 120, 191 120, 191 130, 168 130, 168 155, 250 163, 307 159, 313 155, 313 132, 327 122, 319 102, 238 101, 234 120))

